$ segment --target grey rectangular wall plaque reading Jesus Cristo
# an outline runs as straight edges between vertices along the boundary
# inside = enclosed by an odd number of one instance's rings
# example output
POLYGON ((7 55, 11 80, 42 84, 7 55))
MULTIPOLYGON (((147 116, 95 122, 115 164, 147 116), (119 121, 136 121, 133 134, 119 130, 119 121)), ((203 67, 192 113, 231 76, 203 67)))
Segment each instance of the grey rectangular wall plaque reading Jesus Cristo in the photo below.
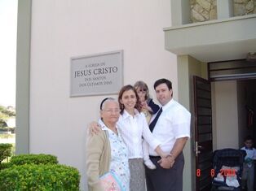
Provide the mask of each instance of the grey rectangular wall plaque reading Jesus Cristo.
POLYGON ((123 51, 71 58, 70 97, 116 94, 123 85, 123 51))

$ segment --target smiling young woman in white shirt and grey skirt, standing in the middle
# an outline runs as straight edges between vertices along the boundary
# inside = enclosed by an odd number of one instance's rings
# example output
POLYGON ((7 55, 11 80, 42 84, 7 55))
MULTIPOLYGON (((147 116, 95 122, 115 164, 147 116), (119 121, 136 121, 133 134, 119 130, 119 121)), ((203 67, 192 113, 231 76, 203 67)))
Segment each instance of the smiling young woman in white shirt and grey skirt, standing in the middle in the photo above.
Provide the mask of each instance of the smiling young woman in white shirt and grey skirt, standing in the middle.
POLYGON ((143 166, 143 139, 157 151, 161 157, 165 154, 160 149, 160 142, 157 141, 148 128, 145 115, 141 112, 139 96, 132 85, 126 85, 121 88, 118 96, 120 105, 120 118, 118 127, 120 127, 121 136, 128 148, 128 158, 130 167, 130 190, 144 191, 145 189, 145 171, 143 166))

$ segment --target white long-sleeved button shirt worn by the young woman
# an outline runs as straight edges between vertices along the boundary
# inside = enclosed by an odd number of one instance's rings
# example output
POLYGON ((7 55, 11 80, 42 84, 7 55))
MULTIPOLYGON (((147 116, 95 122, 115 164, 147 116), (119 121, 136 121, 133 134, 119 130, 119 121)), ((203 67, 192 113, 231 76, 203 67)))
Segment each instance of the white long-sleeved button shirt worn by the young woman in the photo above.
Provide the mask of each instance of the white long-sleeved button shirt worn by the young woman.
POLYGON ((117 122, 117 127, 121 132, 126 146, 128 148, 129 158, 143 158, 142 141, 148 142, 152 150, 160 145, 160 141, 152 136, 148 128, 148 123, 145 115, 135 110, 135 116, 130 115, 126 110, 120 115, 117 122))

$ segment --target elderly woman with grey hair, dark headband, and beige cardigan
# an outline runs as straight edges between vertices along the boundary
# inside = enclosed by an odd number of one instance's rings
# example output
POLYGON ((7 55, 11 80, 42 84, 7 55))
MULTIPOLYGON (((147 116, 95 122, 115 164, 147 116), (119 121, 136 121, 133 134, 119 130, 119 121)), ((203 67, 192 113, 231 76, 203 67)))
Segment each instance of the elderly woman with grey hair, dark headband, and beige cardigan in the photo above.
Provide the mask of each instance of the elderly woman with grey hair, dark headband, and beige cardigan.
POLYGON ((105 191, 101 178, 111 172, 121 186, 129 191, 130 171, 128 150, 118 132, 119 104, 113 98, 105 98, 100 104, 99 124, 103 131, 88 133, 86 144, 86 175, 89 191, 105 191))

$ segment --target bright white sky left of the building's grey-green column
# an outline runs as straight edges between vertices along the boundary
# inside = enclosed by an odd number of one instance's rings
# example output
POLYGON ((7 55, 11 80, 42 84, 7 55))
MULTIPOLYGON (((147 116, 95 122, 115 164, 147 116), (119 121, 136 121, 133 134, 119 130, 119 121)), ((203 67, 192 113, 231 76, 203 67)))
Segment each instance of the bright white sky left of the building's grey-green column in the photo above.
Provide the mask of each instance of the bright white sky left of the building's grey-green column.
POLYGON ((18 0, 0 0, 0 105, 15 106, 18 0))

